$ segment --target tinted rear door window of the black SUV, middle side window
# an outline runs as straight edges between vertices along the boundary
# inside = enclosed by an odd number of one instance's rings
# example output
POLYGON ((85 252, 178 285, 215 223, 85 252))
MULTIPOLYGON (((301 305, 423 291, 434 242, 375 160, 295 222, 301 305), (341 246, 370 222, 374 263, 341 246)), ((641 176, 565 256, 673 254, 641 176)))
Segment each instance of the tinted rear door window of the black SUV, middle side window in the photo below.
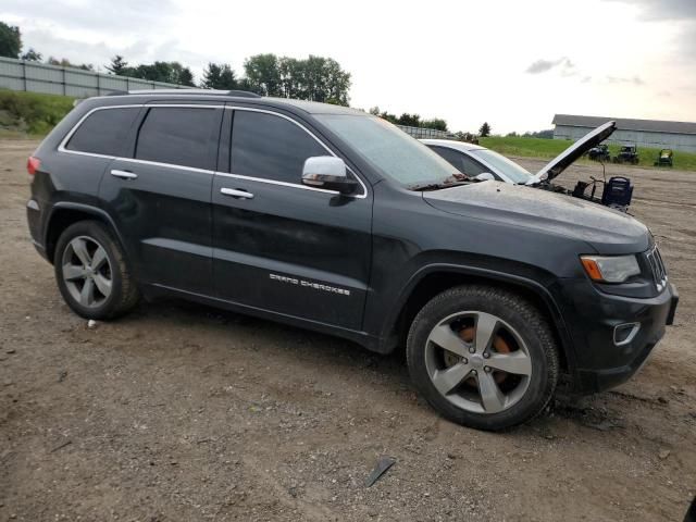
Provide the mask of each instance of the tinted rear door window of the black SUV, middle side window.
POLYGON ((221 111, 152 108, 138 133, 135 157, 195 169, 215 169, 221 111))

